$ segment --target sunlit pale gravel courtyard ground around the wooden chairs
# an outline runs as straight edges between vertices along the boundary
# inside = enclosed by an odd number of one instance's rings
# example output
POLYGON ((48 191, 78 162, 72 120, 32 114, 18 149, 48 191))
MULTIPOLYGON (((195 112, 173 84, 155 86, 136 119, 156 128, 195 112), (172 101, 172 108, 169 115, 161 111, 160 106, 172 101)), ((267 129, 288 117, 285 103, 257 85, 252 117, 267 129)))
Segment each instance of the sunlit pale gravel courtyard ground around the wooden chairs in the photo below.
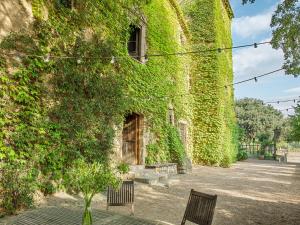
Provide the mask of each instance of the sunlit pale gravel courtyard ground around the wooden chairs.
MULTIPOLYGON (((135 216, 180 224, 193 188, 218 195, 214 225, 300 225, 300 153, 290 154, 288 161, 251 159, 231 168, 196 166, 192 174, 177 176, 170 188, 137 184, 135 216)), ((93 208, 105 209, 105 201, 97 195, 93 208)), ((57 193, 41 201, 39 207, 44 206, 79 208, 82 198, 57 193)), ((110 210, 130 213, 129 206, 110 210)), ((0 224, 11 219, 0 219, 0 224)))

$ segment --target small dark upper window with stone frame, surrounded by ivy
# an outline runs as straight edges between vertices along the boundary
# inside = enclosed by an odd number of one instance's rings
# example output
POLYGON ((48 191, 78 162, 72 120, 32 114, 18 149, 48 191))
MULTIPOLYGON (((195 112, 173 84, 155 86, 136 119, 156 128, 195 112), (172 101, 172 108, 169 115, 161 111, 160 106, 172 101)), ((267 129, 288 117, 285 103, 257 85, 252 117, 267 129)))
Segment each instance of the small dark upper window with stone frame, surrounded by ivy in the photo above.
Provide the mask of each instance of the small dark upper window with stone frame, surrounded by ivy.
POLYGON ((145 62, 145 33, 146 29, 144 25, 139 27, 130 26, 129 40, 127 43, 129 55, 142 63, 145 62))

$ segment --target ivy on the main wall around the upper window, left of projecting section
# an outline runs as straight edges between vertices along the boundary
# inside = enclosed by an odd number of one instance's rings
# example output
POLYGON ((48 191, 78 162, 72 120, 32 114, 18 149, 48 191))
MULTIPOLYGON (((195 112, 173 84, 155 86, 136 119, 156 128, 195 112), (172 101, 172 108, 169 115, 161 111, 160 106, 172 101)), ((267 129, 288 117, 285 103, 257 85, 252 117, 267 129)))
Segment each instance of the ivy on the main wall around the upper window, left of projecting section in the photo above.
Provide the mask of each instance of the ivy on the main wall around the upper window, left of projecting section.
POLYGON ((149 54, 184 50, 179 8, 166 0, 82 0, 74 9, 57 2, 32 0, 32 29, 0 43, 8 54, 0 58, 0 159, 34 162, 45 194, 77 159, 108 163, 124 115, 143 114, 164 147, 169 104, 176 118, 191 115, 189 57, 153 57, 143 65, 126 45, 130 25, 145 16, 149 54), (112 64, 112 56, 120 57, 112 64))

